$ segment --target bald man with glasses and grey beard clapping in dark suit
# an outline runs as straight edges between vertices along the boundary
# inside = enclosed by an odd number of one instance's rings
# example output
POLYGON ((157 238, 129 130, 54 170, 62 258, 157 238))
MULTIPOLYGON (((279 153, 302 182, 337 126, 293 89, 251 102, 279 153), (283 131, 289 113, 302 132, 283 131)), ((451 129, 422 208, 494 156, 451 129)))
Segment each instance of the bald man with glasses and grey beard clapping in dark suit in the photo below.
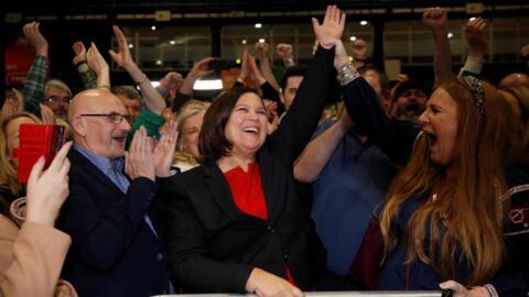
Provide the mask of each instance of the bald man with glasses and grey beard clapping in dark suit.
MULTIPOLYGON (((161 197, 155 176, 174 145, 152 150, 141 128, 125 155, 130 124, 121 100, 106 89, 73 99, 68 122, 74 147, 68 154, 69 197, 58 220, 72 237, 63 276, 79 296, 150 296, 171 285, 162 245, 161 197), (125 160, 127 162, 125 162, 125 160), (125 169, 123 169, 125 167, 125 169)), ((171 155, 171 156, 168 156, 171 155)), ((169 166, 168 166, 169 170, 169 166)))

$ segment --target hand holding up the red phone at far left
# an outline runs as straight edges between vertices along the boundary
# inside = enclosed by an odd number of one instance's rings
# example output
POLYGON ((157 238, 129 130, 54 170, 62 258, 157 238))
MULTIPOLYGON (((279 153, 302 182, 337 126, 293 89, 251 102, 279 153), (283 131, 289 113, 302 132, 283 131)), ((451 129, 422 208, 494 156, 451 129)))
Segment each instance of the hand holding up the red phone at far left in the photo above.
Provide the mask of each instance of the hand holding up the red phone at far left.
POLYGON ((28 221, 46 226, 55 223, 61 206, 69 194, 69 161, 66 155, 71 147, 72 142, 63 145, 44 173, 44 156, 33 165, 28 180, 28 221))

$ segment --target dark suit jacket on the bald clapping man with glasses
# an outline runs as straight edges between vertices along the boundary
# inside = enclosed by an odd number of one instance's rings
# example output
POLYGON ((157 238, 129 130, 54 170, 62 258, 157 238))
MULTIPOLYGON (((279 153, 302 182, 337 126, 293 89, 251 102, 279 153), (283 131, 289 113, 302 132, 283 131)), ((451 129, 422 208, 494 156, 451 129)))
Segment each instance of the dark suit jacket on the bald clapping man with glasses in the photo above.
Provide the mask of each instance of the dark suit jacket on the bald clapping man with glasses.
POLYGON ((57 227, 72 237, 62 276, 79 296, 150 296, 169 289, 156 184, 140 177, 123 194, 90 161, 68 153, 69 197, 57 227))

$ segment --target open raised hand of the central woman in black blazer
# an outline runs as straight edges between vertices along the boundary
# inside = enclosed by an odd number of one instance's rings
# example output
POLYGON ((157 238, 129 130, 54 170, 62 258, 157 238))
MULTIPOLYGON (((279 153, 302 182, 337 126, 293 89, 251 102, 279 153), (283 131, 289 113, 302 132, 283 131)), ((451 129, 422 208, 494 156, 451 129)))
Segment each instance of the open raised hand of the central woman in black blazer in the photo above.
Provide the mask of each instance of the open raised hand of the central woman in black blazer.
POLYGON ((328 6, 323 23, 320 24, 315 18, 312 18, 312 26, 320 45, 330 50, 344 34, 345 13, 342 13, 336 6, 328 6))

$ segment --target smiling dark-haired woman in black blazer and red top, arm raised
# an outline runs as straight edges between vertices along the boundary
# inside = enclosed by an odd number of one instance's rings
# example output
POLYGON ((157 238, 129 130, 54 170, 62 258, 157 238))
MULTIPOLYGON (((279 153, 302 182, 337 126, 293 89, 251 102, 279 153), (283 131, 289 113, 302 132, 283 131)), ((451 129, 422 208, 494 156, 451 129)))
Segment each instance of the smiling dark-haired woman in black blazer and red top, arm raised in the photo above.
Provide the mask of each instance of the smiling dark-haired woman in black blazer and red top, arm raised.
MULTIPOLYGON (((320 48, 270 136, 262 100, 251 89, 222 95, 205 114, 199 136, 205 163, 176 175, 166 188, 169 267, 184 290, 302 296, 299 288, 313 289, 325 251, 302 209, 292 166, 319 122, 335 78, 333 61, 335 67, 348 62, 339 41, 344 23, 336 7, 327 8, 322 25, 313 19, 320 48), (261 193, 263 216, 239 206, 227 178, 237 168, 257 168, 259 178, 246 191, 261 193)), ((255 195, 245 197, 256 202, 255 195)))

